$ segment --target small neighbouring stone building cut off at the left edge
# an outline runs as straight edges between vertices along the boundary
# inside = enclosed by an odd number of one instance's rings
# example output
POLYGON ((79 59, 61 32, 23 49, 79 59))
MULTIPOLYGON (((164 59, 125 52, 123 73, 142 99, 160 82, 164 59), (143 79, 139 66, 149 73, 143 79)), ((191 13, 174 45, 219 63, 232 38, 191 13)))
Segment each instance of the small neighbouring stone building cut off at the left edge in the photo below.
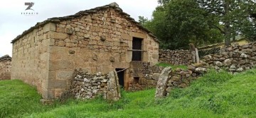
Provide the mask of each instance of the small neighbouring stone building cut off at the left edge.
POLYGON ((11 79, 11 57, 0 57, 0 80, 11 79))

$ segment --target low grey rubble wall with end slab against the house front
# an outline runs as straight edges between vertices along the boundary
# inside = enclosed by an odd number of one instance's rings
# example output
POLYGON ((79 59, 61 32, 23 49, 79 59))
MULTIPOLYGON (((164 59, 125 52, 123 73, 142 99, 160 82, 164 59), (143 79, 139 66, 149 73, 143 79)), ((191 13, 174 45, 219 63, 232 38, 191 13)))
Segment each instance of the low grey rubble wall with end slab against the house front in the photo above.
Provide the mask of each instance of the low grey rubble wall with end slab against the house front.
POLYGON ((82 69, 75 70, 69 92, 77 99, 92 99, 97 95, 108 100, 119 100, 121 97, 115 71, 91 74, 82 69))

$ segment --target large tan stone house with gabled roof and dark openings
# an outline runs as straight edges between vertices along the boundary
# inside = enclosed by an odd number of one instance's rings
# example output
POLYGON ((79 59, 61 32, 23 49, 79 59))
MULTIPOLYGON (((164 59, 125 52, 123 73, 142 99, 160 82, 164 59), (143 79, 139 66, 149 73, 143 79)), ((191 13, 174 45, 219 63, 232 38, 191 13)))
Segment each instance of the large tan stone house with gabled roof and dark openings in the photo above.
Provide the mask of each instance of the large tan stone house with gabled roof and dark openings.
POLYGON ((45 99, 59 98, 68 90, 75 69, 90 73, 121 71, 119 84, 129 90, 144 76, 132 74, 130 67, 134 68, 136 62, 152 66, 159 59, 156 37, 116 3, 48 18, 11 43, 11 79, 35 85, 45 99))

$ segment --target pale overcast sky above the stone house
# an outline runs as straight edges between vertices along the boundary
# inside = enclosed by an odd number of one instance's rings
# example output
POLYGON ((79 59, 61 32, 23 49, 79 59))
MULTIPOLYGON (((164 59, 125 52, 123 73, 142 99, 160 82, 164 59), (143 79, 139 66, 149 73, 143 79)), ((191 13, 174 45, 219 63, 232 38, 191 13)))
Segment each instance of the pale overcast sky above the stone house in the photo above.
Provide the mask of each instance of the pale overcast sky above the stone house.
POLYGON ((138 16, 151 18, 156 8, 157 0, 6 0, 0 4, 0 57, 5 54, 11 56, 11 40, 21 35, 36 23, 47 18, 68 16, 97 6, 104 6, 117 2, 119 7, 132 18, 138 20, 138 16), (33 2, 34 11, 25 9, 25 2, 33 2), (26 16, 21 13, 34 12, 38 15, 26 16))

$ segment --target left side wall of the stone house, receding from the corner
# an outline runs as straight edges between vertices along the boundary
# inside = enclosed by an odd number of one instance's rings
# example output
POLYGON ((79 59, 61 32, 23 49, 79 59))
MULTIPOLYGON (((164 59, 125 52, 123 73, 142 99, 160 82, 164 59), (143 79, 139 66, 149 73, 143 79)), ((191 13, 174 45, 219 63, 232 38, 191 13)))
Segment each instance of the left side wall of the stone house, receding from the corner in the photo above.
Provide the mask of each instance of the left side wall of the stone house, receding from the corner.
MULTIPOLYGON (((36 86, 43 98, 48 98, 48 70, 50 27, 52 23, 34 28, 30 33, 13 42, 11 79, 21 79, 36 86)), ((50 83, 53 84, 53 83, 50 83)), ((49 84, 49 85, 50 85, 49 84)))

